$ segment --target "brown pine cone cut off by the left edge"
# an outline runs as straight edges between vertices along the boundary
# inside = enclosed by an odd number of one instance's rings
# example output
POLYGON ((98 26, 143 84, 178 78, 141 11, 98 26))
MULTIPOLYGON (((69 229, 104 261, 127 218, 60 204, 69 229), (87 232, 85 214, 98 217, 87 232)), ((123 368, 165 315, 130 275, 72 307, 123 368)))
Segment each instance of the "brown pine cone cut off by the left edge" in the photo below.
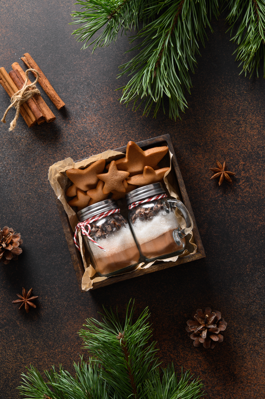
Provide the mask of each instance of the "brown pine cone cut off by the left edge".
POLYGON ((0 229, 0 261, 7 265, 11 259, 17 260, 18 255, 21 254, 22 249, 19 245, 22 244, 19 233, 15 233, 12 228, 5 226, 0 229))

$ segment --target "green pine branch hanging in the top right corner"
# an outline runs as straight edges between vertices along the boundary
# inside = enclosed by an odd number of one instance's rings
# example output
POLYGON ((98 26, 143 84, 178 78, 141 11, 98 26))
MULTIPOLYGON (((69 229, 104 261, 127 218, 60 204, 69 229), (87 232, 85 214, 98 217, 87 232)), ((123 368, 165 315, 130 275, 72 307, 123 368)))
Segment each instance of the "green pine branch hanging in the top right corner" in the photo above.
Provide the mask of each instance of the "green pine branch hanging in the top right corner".
POLYGON ((232 30, 239 24, 236 34, 231 40, 237 42, 238 49, 236 60, 241 61, 245 76, 250 77, 256 72, 259 77, 259 68, 263 70, 265 78, 265 3, 260 0, 230 0, 228 3, 230 13, 227 21, 232 30))

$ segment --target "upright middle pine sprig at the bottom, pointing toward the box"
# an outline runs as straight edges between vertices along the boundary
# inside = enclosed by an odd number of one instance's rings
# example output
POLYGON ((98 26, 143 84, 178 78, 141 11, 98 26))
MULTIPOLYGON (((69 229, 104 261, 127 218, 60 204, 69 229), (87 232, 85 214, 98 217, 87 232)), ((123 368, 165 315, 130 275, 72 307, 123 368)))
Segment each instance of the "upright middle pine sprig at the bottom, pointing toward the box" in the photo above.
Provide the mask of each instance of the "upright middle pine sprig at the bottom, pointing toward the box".
POLYGON ((155 342, 148 345, 152 334, 145 309, 133 323, 134 307, 127 308, 123 323, 118 314, 105 310, 103 320, 88 319, 86 329, 80 335, 85 348, 104 367, 102 373, 108 384, 114 387, 120 398, 141 396, 143 382, 149 372, 158 367, 155 342))

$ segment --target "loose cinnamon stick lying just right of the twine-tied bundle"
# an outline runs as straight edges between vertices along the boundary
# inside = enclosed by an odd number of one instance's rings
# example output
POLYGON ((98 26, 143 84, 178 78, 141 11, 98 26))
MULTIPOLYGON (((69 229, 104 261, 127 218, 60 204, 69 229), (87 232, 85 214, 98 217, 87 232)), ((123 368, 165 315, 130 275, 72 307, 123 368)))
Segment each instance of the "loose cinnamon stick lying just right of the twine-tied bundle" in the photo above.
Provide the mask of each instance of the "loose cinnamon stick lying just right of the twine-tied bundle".
MULTIPOLYGON (((36 69, 36 71, 38 71, 40 76, 38 82, 41 85, 42 89, 47 94, 49 99, 54 103, 56 108, 61 109, 65 105, 64 101, 58 96, 58 94, 56 93, 56 91, 54 90, 54 88, 52 87, 52 85, 50 84, 50 82, 48 81, 48 79, 40 69, 40 67, 33 60, 31 55, 29 53, 25 53, 24 57, 21 57, 21 60, 24 62, 24 64, 26 64, 28 68, 33 68, 36 69)), ((34 74, 34 72, 32 73, 34 76, 36 75, 34 74)))

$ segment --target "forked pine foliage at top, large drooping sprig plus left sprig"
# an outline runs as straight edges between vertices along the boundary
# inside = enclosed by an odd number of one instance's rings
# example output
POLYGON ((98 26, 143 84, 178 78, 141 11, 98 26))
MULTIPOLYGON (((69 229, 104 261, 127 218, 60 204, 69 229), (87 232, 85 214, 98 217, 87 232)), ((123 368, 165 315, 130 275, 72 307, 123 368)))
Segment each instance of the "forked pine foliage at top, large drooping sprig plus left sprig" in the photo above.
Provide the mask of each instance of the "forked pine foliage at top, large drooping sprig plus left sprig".
POLYGON ((73 34, 78 41, 85 41, 83 48, 94 44, 93 51, 115 41, 120 30, 121 34, 132 27, 137 30, 139 23, 143 23, 143 29, 136 35, 141 43, 130 50, 139 54, 120 67, 119 76, 134 75, 121 88, 121 102, 133 101, 135 109, 145 102, 146 115, 155 105, 156 116, 160 106, 164 108, 166 97, 170 117, 176 119, 179 110, 184 112, 184 93, 185 89, 190 93, 189 71, 194 73, 198 41, 204 44, 205 27, 210 26, 208 15, 217 16, 218 0, 78 0, 77 4, 86 11, 72 14, 72 23, 82 24, 73 34), (102 32, 89 43, 102 27, 102 32))

